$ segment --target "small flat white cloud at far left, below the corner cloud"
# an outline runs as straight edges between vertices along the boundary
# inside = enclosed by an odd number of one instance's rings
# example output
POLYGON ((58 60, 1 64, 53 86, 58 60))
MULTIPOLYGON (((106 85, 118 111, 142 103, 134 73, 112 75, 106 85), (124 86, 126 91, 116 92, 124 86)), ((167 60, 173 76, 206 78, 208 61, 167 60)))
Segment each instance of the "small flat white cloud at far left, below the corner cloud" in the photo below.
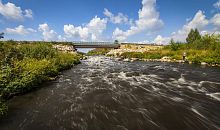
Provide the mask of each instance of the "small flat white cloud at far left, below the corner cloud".
POLYGON ((5 32, 8 34, 27 35, 29 33, 36 32, 36 30, 32 28, 25 28, 23 25, 19 25, 15 28, 6 28, 5 32))

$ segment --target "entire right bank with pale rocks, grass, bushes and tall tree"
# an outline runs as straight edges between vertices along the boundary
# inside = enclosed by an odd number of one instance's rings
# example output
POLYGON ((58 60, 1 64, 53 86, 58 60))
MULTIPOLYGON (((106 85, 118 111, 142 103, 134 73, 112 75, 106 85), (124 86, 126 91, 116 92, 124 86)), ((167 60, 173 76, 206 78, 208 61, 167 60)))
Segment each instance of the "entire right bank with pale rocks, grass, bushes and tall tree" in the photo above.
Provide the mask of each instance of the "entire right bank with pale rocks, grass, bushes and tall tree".
POLYGON ((220 35, 201 36, 197 29, 192 29, 186 42, 171 39, 168 45, 152 46, 143 44, 121 44, 119 49, 95 49, 89 54, 104 54, 124 61, 159 61, 220 66, 220 35), (183 59, 183 55, 186 59, 183 59))

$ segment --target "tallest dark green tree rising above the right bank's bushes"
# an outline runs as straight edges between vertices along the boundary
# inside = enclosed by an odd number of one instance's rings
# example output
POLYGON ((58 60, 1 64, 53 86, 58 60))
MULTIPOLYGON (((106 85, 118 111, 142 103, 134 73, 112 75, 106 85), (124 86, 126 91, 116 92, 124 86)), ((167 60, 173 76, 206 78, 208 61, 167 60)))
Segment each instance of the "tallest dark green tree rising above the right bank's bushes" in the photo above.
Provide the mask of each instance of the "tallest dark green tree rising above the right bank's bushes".
POLYGON ((188 37, 186 38, 186 41, 187 43, 194 43, 195 41, 198 41, 201 39, 201 35, 198 31, 198 29, 196 28, 195 30, 194 29, 191 29, 189 34, 188 34, 188 37))

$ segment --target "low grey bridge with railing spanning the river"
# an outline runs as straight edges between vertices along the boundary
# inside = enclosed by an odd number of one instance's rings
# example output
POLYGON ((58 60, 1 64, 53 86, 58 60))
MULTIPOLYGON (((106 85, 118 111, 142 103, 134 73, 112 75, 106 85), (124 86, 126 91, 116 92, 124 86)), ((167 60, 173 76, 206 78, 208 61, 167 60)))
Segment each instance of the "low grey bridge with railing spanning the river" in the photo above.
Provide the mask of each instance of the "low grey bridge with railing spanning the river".
POLYGON ((114 48, 120 47, 120 44, 115 42, 71 42, 74 48, 114 48))

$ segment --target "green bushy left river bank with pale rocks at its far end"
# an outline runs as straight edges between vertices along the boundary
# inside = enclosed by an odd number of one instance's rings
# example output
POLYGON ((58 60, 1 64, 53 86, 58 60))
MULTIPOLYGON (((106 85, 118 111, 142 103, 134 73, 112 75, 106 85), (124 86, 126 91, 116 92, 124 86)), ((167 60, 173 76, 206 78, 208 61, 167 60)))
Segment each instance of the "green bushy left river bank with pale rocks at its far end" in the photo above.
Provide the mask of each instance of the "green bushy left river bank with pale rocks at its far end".
POLYGON ((7 99, 54 80, 62 70, 79 64, 81 56, 71 49, 68 44, 52 42, 0 41, 0 116, 7 113, 7 99))

